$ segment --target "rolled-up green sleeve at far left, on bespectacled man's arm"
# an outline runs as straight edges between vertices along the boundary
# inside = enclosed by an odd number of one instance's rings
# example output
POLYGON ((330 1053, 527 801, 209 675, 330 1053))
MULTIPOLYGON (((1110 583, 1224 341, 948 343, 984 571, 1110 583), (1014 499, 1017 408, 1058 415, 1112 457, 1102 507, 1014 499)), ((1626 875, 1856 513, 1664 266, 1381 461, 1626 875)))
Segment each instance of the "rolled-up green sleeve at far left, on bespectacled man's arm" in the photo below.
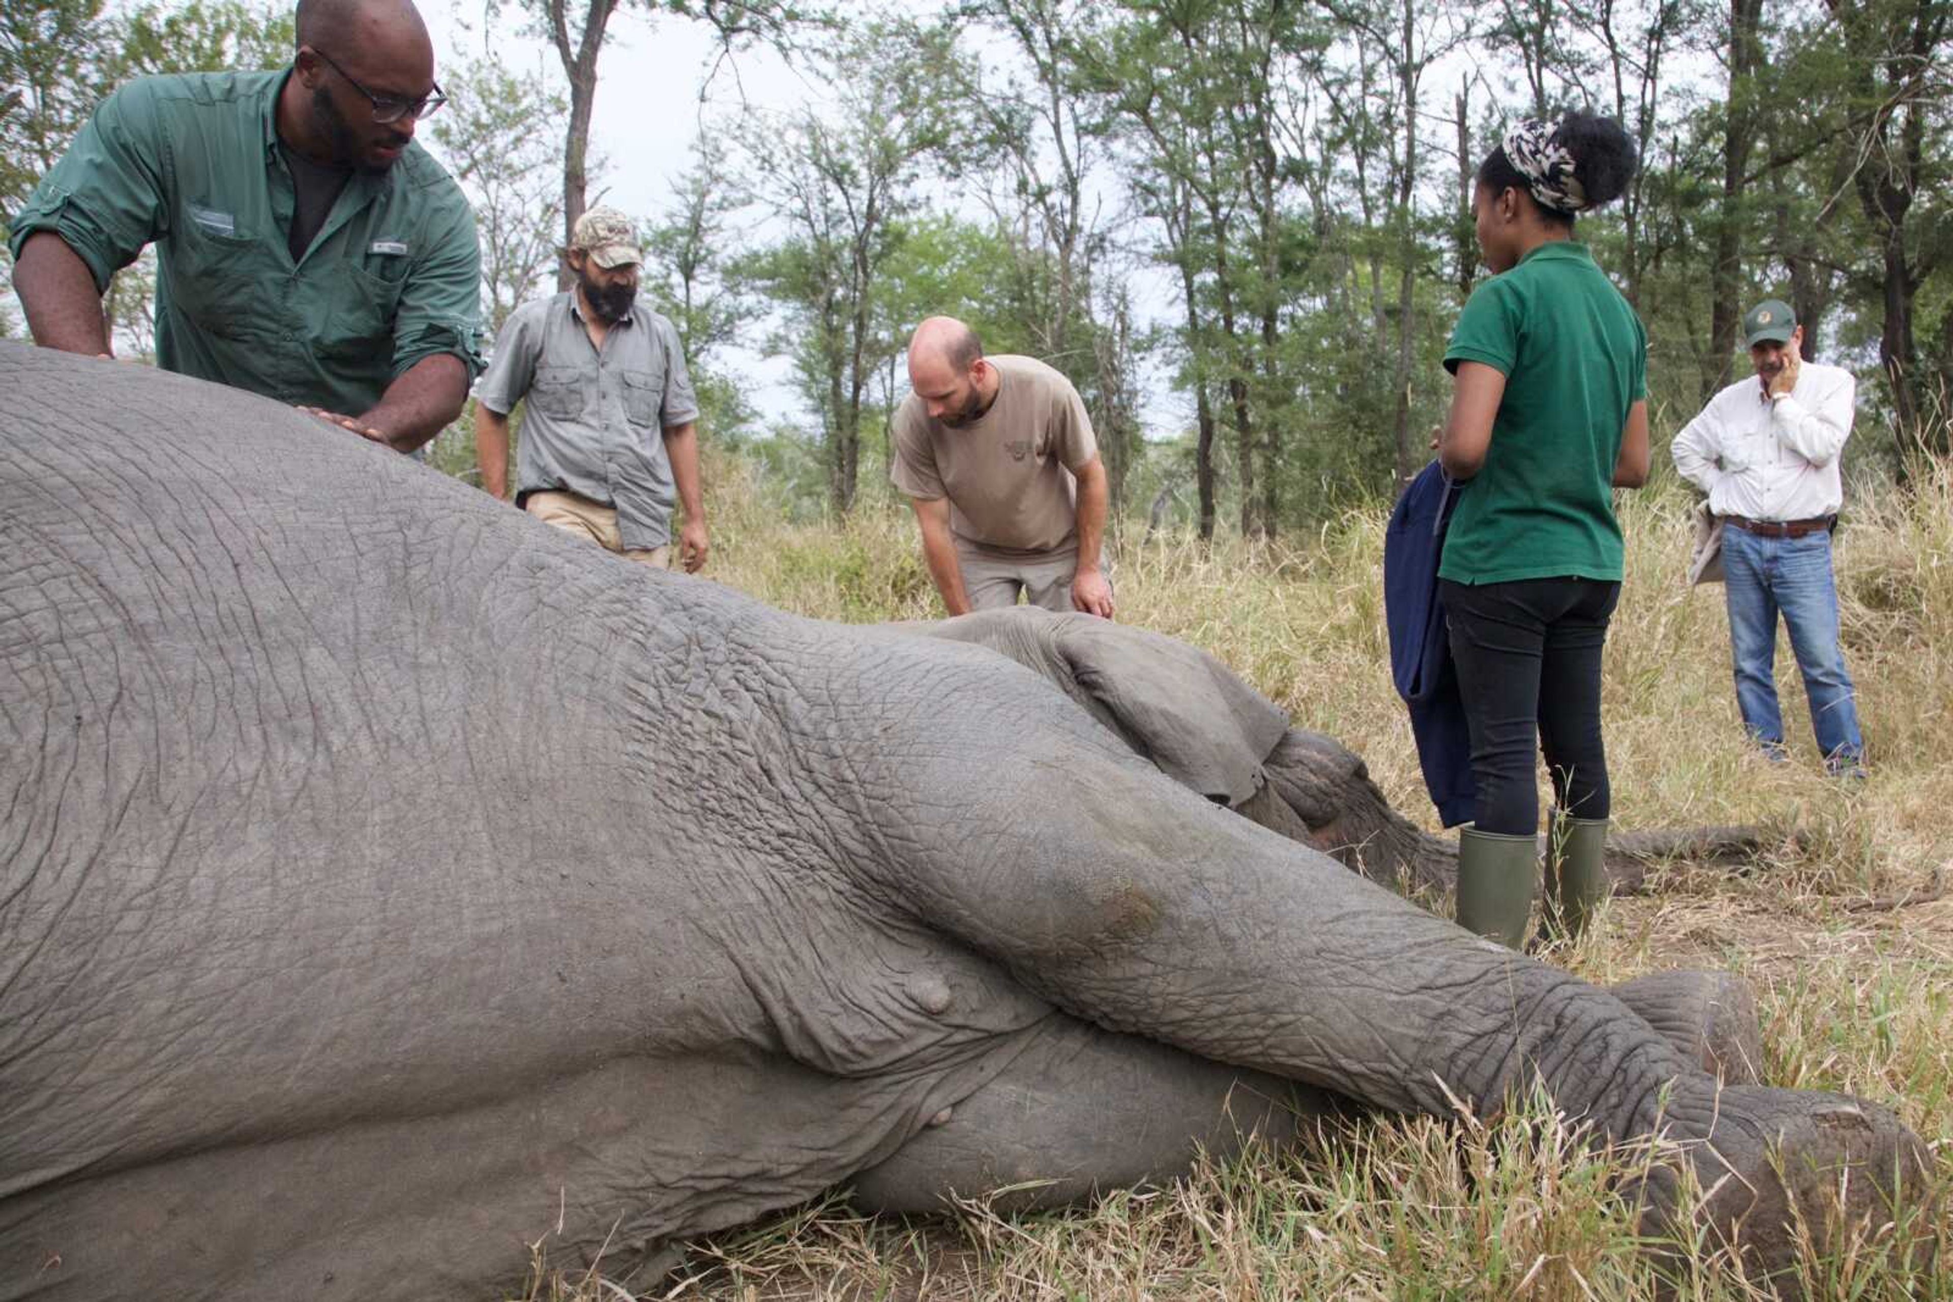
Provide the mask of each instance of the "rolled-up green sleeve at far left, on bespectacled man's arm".
POLYGON ((14 258, 27 236, 53 232, 88 264, 96 291, 107 291, 109 277, 168 230, 158 135, 146 82, 129 82, 104 100, 14 217, 14 258))

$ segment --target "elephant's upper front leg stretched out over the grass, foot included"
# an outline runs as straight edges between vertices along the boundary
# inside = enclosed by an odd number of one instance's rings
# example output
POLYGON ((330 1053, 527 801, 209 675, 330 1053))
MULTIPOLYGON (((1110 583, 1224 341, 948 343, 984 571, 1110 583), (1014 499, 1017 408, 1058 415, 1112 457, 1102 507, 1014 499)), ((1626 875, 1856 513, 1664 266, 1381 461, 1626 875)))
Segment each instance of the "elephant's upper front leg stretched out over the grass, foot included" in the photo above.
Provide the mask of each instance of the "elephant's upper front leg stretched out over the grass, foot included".
POLYGON ((1646 1230, 1740 1241, 1767 1271, 1803 1251, 1793 1220, 1826 1253, 1834 1226, 1877 1232, 1894 1195, 1926 1197, 1932 1154, 1889 1109, 1724 1085, 1611 994, 1121 757, 1076 753, 1057 781, 930 724, 910 781, 986 798, 928 843, 893 832, 885 888, 1055 1007, 1379 1109, 1492 1119, 1539 1089, 1596 1140, 1660 1132, 1646 1230), (1683 1163, 1707 1199, 1678 1200, 1683 1163))

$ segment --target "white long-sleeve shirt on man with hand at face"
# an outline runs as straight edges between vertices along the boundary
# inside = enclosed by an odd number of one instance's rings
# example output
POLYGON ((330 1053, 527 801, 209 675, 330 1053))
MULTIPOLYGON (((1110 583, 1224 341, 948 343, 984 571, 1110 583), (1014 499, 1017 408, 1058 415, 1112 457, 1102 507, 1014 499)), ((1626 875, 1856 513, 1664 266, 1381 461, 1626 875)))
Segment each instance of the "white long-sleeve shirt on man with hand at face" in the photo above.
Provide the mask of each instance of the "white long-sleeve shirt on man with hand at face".
POLYGON ((1857 381, 1844 367, 1805 361, 1775 400, 1754 375, 1709 398, 1670 455, 1717 515, 1816 519, 1844 506, 1838 453, 1851 437, 1857 381))

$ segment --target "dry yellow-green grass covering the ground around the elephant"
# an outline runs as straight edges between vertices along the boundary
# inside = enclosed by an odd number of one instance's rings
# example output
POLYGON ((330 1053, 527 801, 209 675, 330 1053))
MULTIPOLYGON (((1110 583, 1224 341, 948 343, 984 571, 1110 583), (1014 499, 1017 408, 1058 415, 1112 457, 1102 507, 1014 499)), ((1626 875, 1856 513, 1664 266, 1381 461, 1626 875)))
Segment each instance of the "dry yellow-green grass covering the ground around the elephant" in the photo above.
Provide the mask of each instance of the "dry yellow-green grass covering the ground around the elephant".
MULTIPOLYGON (((738 467, 715 467, 713 574, 822 619, 939 613, 906 511, 840 529, 773 523, 738 467)), ((1769 1083, 1885 1101, 1953 1187, 1953 898, 1904 904, 1953 865, 1953 470, 1912 496, 1853 502, 1838 539, 1848 662, 1873 773, 1820 775, 1789 648, 1779 689, 1795 761, 1740 744, 1721 590, 1689 591, 1687 502, 1625 508, 1629 576, 1607 646, 1615 814, 1627 826, 1750 822, 1783 847, 1746 875, 1678 867, 1615 900, 1549 956, 1617 982, 1672 966, 1742 974, 1764 1015, 1769 1083)), ((1391 800, 1435 828, 1381 609, 1383 513, 1277 547, 1127 545, 1121 617, 1195 642, 1369 759, 1391 800)), ((1615 1193, 1646 1152, 1596 1154, 1537 1103, 1496 1126, 1398 1120, 1250 1152, 1170 1189, 1064 1216, 980 1202, 937 1222, 861 1218, 832 1199, 693 1243, 654 1296, 680 1298, 1639 1298, 1654 1279, 1615 1193)), ((1930 1226, 1953 1263, 1953 1189, 1930 1226)), ((1916 1210, 1914 1210, 1916 1214, 1916 1210)), ((1814 1298, 1953 1300, 1891 1240, 1807 1261, 1814 1298)), ((619 1296, 539 1269, 529 1298, 619 1296), (578 1286, 580 1284, 580 1286, 578 1286)), ((1685 1253, 1682 1298, 1766 1296, 1715 1253, 1685 1253)))

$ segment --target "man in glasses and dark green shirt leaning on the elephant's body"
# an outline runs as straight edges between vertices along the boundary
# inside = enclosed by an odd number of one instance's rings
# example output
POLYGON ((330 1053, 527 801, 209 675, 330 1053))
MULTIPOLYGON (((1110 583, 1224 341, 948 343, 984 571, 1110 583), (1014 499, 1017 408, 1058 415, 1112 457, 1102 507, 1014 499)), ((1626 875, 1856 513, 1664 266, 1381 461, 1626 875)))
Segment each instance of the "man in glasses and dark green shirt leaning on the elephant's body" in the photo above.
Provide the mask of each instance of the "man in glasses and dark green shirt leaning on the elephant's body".
POLYGON ((398 451, 480 369, 475 213, 414 142, 441 105, 406 0, 301 0, 277 72, 137 78, 14 219, 35 344, 113 351, 102 293, 156 246, 156 361, 398 451))

